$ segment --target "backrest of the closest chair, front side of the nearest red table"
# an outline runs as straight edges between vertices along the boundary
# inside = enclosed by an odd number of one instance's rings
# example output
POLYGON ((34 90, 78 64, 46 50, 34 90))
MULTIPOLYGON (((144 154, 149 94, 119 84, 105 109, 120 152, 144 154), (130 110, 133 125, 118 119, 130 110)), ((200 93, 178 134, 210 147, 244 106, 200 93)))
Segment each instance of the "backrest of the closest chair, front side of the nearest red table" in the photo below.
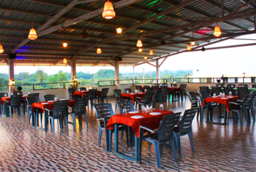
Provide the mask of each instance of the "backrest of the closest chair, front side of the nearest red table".
POLYGON ((170 140, 173 137, 173 128, 178 123, 180 114, 181 112, 178 112, 163 117, 162 123, 156 131, 159 141, 170 140))

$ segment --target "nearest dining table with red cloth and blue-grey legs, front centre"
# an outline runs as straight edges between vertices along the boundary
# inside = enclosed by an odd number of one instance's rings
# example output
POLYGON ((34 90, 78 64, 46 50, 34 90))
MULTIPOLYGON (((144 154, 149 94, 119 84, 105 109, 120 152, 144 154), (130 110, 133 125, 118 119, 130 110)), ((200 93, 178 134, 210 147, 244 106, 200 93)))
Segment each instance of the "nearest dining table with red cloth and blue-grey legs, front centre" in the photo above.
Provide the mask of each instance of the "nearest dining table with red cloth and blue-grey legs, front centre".
MULTIPOLYGON (((109 130, 109 135, 111 129, 114 129, 115 155, 128 160, 139 161, 139 127, 146 126, 151 129, 157 129, 160 126, 160 121, 163 120, 163 117, 168 114, 173 114, 173 111, 155 109, 154 114, 151 114, 151 112, 142 113, 141 111, 136 111, 136 113, 133 112, 129 112, 127 114, 116 114, 111 116, 111 118, 108 120, 106 129, 109 130), (130 146, 134 145, 135 138, 135 157, 125 155, 118 151, 119 125, 127 125, 129 127, 130 146)), ((110 145, 111 143, 108 144, 110 145)), ((110 147, 108 145, 107 151, 110 151, 110 147)))

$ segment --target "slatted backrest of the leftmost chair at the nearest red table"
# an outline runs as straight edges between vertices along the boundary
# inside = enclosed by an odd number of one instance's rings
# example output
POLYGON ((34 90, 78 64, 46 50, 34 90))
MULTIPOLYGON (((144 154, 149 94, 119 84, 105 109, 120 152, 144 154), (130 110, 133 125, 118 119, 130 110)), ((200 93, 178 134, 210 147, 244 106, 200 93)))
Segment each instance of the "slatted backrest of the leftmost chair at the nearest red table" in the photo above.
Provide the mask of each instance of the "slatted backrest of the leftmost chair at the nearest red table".
POLYGON ((96 111, 97 119, 102 117, 111 117, 114 115, 111 103, 99 103, 93 104, 94 110, 96 111))

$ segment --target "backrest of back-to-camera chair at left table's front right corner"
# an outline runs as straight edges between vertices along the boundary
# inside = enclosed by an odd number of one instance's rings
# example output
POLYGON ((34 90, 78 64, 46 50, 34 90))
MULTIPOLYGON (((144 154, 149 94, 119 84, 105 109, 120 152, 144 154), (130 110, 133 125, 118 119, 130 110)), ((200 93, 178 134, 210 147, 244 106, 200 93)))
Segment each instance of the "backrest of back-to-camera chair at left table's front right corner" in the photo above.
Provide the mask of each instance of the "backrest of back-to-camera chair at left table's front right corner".
POLYGON ((68 101, 54 101, 52 108, 53 117, 65 117, 68 115, 68 101))

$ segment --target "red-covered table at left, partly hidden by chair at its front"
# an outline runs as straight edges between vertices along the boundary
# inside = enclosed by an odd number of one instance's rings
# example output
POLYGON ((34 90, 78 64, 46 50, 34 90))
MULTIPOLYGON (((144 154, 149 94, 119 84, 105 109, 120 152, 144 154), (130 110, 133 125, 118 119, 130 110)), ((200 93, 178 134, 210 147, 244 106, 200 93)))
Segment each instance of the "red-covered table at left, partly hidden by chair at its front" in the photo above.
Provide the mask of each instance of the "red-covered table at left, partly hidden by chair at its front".
MULTIPOLYGON (((60 99, 60 100, 66 100, 66 99, 60 99)), ((68 106, 74 107, 75 103, 76 102, 74 100, 69 100, 68 106)), ((38 128, 47 131, 48 111, 45 111, 45 109, 52 110, 53 104, 54 104, 54 101, 43 101, 43 102, 37 102, 37 103, 31 104, 31 108, 35 112, 35 113, 32 113, 32 114, 35 114, 35 117, 33 117, 33 115, 32 115, 32 125, 34 124, 33 126, 36 125, 35 119, 36 118, 38 119, 38 114, 44 113, 44 128, 43 127, 38 127, 38 128), (33 119, 34 119, 34 122, 33 122, 33 119)), ((37 123, 37 126, 38 126, 38 123, 37 123)))

